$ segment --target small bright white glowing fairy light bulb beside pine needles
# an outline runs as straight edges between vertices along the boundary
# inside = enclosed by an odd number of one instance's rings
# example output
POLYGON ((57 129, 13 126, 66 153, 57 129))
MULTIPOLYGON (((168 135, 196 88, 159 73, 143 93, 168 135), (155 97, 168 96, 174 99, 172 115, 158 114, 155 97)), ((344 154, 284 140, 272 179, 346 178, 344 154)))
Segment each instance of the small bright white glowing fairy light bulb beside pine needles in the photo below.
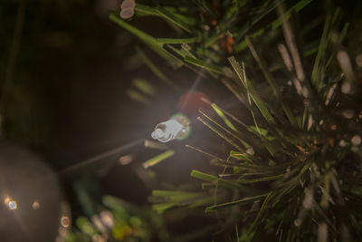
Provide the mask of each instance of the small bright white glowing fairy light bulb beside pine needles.
POLYGON ((171 140, 186 139, 189 131, 189 121, 185 116, 177 114, 168 121, 158 123, 151 136, 154 140, 168 142, 171 140))

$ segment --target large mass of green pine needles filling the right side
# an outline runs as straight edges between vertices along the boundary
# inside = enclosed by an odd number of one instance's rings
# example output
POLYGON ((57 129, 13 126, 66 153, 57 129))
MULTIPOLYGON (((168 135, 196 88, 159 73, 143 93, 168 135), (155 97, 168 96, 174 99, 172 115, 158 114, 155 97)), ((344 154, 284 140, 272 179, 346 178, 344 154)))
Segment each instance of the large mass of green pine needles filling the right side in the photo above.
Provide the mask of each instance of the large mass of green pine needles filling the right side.
MULTIPOLYGON (((194 148, 224 170, 219 177, 191 173, 206 181, 203 189, 217 198, 205 212, 224 220, 225 237, 362 240, 361 66, 354 63, 358 53, 345 45, 356 44, 361 35, 357 24, 350 29, 346 9, 327 2, 326 12, 308 0, 194 1, 189 11, 184 1, 138 4, 139 16, 163 17, 180 28, 176 38, 148 37, 117 14, 110 15, 162 57, 205 69, 250 111, 224 111, 213 104, 220 121, 200 111, 199 121, 232 149, 229 157, 219 158, 210 154, 212 150, 194 148), (313 43, 319 43, 318 48, 304 52, 316 46, 313 43), (165 44, 181 54, 167 54, 165 44)), ((205 196, 185 192, 173 200, 176 195, 168 193, 157 193, 171 199, 156 205, 158 211, 189 206, 193 199, 180 201, 205 196)))

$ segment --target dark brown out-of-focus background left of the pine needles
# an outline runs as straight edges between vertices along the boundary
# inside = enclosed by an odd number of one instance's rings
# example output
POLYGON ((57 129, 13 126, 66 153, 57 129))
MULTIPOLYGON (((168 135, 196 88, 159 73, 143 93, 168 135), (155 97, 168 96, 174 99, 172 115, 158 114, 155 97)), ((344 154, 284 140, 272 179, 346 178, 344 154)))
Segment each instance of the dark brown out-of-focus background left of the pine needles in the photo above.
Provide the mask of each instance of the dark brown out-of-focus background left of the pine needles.
MULTIPOLYGON (((210 169, 207 159, 186 149, 186 143, 211 145, 223 152, 223 141, 205 142, 217 137, 195 123, 188 140, 170 145, 176 150, 174 156, 154 169, 143 169, 143 162, 160 153, 144 144, 151 140, 155 125, 177 112, 177 102, 188 89, 203 89, 205 80, 185 71, 175 75, 166 67, 163 71, 177 86, 160 81, 138 57, 138 38, 110 22, 109 11, 118 10, 120 4, 119 0, 5 0, 0 5, 1 135, 5 146, 11 142, 20 150, 33 150, 52 169, 74 227, 77 218, 91 218, 105 209, 105 195, 153 213, 148 202, 152 189, 182 189, 180 184, 192 181, 192 169, 210 169), (142 83, 148 88, 146 94, 139 91, 142 83), (196 139, 198 129, 204 134, 196 139)), ((148 19, 132 24, 155 36, 169 35, 169 24, 148 19)), ((162 63, 149 54, 152 62, 162 63)), ((220 84, 207 86, 205 95, 214 101, 227 93, 220 84)), ((14 169, 9 172, 26 167, 19 164, 14 169)), ((175 235, 205 227, 207 222, 194 216, 187 226, 175 222, 168 227, 175 235)), ((158 240, 157 235, 150 237, 158 240)))

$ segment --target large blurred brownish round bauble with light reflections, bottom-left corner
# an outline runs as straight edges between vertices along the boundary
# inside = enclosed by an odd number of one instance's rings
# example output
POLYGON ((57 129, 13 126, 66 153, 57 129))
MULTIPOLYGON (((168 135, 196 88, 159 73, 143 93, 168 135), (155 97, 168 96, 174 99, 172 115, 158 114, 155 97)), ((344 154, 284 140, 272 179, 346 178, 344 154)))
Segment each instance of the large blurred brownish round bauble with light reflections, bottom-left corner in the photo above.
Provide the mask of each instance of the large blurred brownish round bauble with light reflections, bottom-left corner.
POLYGON ((55 241, 62 193, 52 170, 32 152, 0 141, 1 241, 55 241))

